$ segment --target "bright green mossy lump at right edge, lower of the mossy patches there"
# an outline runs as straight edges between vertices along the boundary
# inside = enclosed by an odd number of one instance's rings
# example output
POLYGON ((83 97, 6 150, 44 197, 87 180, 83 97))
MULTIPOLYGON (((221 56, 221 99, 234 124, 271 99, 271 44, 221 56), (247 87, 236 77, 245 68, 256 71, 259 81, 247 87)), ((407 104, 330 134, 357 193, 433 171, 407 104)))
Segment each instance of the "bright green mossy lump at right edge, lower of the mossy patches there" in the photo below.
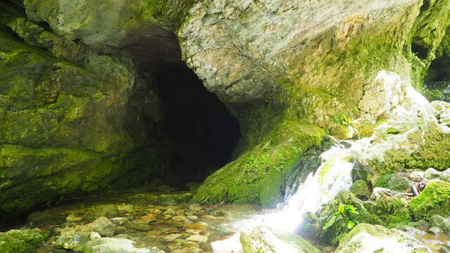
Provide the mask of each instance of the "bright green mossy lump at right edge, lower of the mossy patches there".
POLYGON ((428 220, 433 214, 450 214, 450 183, 433 181, 420 195, 409 202, 409 211, 416 221, 428 220))

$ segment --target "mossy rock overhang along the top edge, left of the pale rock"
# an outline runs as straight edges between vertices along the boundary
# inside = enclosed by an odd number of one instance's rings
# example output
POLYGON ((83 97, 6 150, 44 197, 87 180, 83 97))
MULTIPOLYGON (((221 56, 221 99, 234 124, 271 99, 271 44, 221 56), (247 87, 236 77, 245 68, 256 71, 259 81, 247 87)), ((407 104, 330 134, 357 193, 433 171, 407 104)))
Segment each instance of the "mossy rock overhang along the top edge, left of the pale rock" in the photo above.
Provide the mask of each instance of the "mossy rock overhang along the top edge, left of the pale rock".
POLYGON ((150 33, 146 34, 148 37, 158 35, 151 34, 156 23, 175 30, 196 1, 25 0, 24 5, 31 20, 48 22, 53 31, 67 39, 82 39, 96 46, 118 46, 130 35, 144 36, 145 32, 150 33))

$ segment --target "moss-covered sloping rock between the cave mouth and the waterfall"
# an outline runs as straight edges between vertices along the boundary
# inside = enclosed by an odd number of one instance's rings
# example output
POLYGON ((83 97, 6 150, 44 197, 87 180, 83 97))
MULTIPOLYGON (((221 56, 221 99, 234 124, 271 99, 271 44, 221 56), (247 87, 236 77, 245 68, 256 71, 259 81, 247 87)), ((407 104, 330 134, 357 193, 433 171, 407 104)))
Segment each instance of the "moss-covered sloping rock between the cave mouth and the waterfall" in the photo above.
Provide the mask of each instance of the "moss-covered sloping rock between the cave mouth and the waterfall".
POLYGON ((315 126, 283 122, 264 137, 264 144, 255 146, 209 176, 193 200, 274 205, 282 200, 285 179, 300 155, 320 145, 323 135, 315 126))

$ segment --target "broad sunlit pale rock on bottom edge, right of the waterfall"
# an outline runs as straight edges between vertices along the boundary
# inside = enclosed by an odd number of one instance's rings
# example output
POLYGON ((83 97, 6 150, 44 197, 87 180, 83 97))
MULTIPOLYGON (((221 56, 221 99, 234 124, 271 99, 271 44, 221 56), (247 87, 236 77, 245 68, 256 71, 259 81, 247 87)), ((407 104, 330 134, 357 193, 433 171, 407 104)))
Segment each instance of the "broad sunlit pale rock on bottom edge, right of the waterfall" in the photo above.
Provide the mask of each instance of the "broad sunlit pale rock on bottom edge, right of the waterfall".
POLYGON ((412 253, 430 249, 406 233, 361 223, 342 239, 335 253, 412 253))

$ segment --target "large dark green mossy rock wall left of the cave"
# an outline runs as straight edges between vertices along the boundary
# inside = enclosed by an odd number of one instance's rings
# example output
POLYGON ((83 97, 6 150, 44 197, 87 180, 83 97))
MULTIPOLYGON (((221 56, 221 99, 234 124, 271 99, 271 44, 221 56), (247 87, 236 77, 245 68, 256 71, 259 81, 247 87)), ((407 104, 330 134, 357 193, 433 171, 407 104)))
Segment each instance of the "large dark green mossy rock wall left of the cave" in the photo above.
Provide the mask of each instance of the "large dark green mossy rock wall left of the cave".
MULTIPOLYGON (((112 186, 142 166, 141 152, 153 138, 146 136, 146 124, 155 125, 160 112, 144 116, 141 108, 160 108, 160 102, 134 97, 143 80, 126 56, 96 53, 3 6, 8 12, 0 12, 0 216, 6 219, 112 186), (148 122, 136 126, 143 117, 148 122)), ((155 147, 148 145, 154 155, 146 155, 152 165, 142 179, 160 165, 155 147)))

